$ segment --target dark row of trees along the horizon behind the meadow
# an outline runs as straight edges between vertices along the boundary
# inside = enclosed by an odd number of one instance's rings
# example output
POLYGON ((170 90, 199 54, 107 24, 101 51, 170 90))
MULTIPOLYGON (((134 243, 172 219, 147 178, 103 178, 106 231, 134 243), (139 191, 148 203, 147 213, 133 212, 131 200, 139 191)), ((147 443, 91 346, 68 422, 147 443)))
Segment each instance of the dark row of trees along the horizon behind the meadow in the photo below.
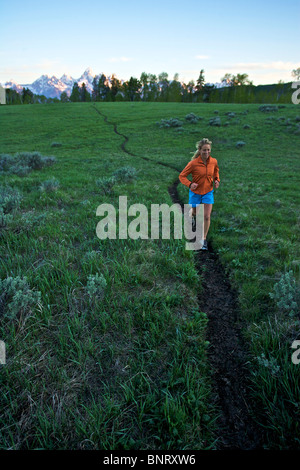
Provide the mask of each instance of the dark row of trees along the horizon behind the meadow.
MULTIPOLYGON (((293 71, 295 72, 295 71, 293 71)), ((70 96, 63 92, 60 99, 35 95, 28 88, 22 93, 6 90, 7 104, 90 102, 90 101, 151 101, 185 103, 289 103, 291 84, 279 82, 276 85, 254 86, 248 74, 225 74, 221 78, 223 86, 205 82, 204 70, 200 71, 196 82, 180 82, 178 74, 172 80, 166 72, 158 76, 143 72, 139 79, 130 77, 119 80, 115 75, 108 78, 104 74, 95 76, 92 92, 86 84, 74 83, 70 96)))

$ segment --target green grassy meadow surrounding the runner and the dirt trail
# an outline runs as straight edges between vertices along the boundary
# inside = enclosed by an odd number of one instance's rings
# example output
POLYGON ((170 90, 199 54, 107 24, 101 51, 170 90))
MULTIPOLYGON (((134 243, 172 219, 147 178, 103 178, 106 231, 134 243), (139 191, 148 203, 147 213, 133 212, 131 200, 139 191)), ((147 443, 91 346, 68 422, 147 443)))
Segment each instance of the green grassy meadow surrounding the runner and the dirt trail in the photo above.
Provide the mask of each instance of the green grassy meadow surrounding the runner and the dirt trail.
POLYGON ((59 103, 0 120, 0 448, 224 447, 202 309, 219 263, 256 447, 299 449, 298 107, 59 103), (202 137, 221 179, 209 264, 172 233, 98 238, 97 207, 118 213, 120 196, 187 204, 178 175, 202 137))

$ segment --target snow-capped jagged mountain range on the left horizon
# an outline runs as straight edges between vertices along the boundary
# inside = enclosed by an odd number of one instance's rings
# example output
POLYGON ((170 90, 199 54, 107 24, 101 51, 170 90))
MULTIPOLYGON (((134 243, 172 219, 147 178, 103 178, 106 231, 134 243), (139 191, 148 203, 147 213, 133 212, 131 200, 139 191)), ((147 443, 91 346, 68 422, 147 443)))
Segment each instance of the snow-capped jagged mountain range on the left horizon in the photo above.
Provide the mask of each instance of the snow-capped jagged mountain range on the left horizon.
POLYGON ((14 81, 10 81, 4 83, 3 86, 4 88, 13 88, 18 93, 22 92, 23 88, 29 88, 29 90, 35 95, 44 95, 46 98, 60 98, 63 91, 70 96, 75 82, 77 82, 79 86, 85 83, 87 91, 92 93, 94 77, 95 75, 93 74, 93 71, 90 68, 87 68, 77 79, 66 74, 61 78, 57 78, 54 75, 52 77, 49 75, 42 75, 29 85, 19 85, 14 81))

